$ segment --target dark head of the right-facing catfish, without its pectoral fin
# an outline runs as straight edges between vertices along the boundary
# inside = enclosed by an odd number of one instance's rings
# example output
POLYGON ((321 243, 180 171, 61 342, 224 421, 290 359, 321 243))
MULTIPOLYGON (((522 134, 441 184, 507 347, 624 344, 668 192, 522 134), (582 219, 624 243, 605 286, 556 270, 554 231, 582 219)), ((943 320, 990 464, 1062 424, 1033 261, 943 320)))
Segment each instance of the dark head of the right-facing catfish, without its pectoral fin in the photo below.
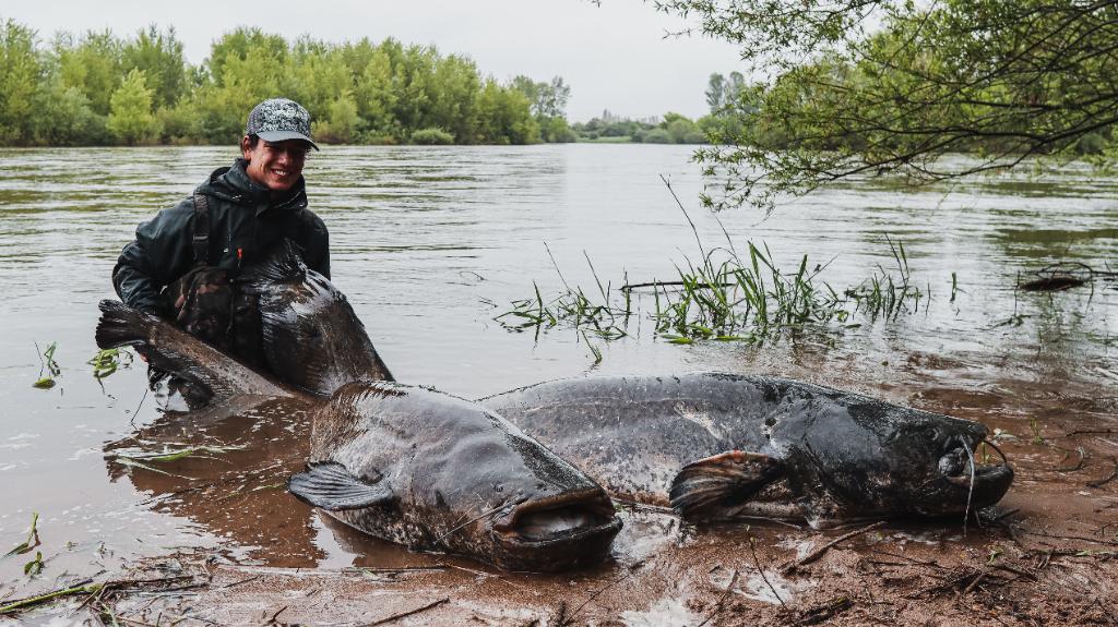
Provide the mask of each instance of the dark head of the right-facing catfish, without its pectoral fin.
POLYGON ((784 463, 813 525, 963 515, 996 503, 1013 482, 1007 464, 979 459, 979 423, 854 396, 800 408, 812 419, 785 443, 784 463))

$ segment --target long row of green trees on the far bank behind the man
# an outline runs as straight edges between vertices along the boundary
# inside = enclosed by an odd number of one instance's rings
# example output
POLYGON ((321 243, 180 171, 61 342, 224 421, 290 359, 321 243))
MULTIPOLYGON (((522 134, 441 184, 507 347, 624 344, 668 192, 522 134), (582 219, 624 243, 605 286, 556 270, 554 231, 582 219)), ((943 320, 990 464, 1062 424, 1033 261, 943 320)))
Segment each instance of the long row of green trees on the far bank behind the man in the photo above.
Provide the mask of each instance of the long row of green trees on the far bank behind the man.
POLYGON ((0 22, 0 145, 230 144, 254 105, 281 95, 307 108, 325 143, 575 139, 561 78, 502 84, 433 46, 288 42, 238 28, 193 66, 173 27, 126 38, 61 32, 44 44, 23 25, 0 22))

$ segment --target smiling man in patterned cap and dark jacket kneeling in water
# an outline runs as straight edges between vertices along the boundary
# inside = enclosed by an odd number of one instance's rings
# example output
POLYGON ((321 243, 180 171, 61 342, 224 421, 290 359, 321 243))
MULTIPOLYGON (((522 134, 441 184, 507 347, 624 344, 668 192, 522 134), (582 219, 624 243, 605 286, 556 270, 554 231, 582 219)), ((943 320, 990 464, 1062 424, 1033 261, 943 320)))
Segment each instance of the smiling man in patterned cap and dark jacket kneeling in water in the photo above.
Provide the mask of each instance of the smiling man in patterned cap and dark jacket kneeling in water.
POLYGON ((309 268, 330 278, 326 226, 306 209, 303 165, 311 148, 319 149, 306 109, 286 98, 256 105, 241 158, 140 224, 121 251, 113 268, 121 300, 258 363, 258 311, 231 284, 239 270, 290 239, 309 268))

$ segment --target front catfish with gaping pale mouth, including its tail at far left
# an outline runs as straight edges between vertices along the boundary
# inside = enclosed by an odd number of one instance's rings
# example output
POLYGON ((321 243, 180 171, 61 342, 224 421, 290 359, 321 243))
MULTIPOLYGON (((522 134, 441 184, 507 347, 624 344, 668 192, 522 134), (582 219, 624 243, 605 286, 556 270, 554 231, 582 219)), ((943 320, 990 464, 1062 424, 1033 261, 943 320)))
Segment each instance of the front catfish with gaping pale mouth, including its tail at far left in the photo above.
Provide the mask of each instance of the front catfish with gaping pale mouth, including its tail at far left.
POLYGON ((600 561, 620 529, 601 488, 475 403, 372 380, 315 398, 154 316, 108 300, 101 310, 98 346, 135 346, 211 403, 244 395, 314 403, 311 463, 288 486, 361 531, 509 570, 552 571, 600 561))

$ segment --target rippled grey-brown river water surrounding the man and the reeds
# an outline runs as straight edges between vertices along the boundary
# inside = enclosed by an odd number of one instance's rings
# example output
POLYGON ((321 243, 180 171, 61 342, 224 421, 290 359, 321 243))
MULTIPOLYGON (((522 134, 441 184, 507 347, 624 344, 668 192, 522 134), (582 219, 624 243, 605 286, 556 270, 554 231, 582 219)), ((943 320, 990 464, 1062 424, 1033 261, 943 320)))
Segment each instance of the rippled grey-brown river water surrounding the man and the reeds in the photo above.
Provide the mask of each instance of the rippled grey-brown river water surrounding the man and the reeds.
MULTIPOLYGON (((172 550, 301 567, 405 559, 276 488, 302 459, 297 407, 196 423, 163 414, 144 393, 143 368, 98 383, 86 364, 96 303, 115 297, 110 273, 135 225, 233 156, 212 147, 0 151, 0 552, 26 538, 37 512, 39 587, 172 550), (61 374, 37 389, 36 345, 51 343, 61 374), (122 446, 111 443, 129 437, 226 448, 160 466, 170 474, 106 462, 106 450, 122 446)), ((652 145, 328 147, 306 177, 311 206, 330 228, 334 281, 405 383, 480 397, 586 373, 778 374, 984 421, 1017 435, 1007 453, 1023 463, 1045 454, 1030 445, 1038 438, 1115 426, 1116 284, 1054 293, 1015 286, 1060 261, 1118 270, 1118 179, 1074 166, 920 191, 877 179, 790 201, 769 218, 747 209, 714 216, 695 202, 701 183, 689 156, 688 147, 652 145), (575 331, 511 332, 493 320, 532 297, 533 281, 544 297, 557 293, 556 266, 591 292, 587 258, 615 288, 626 277, 672 280, 678 266, 700 261, 662 175, 704 248, 726 245, 727 234, 739 250, 764 243, 788 271, 807 253, 839 291, 879 264, 893 268, 887 237, 902 242, 925 295, 919 310, 892 321, 855 314, 847 322, 856 328, 761 346, 679 346, 637 322, 629 338, 590 338, 600 363, 575 331)), ((641 307, 638 320, 652 303, 641 307)), ((1031 482, 1044 479, 1018 472, 1021 489, 1031 482)), ((0 597, 35 587, 22 573, 31 554, 0 560, 0 597)))

